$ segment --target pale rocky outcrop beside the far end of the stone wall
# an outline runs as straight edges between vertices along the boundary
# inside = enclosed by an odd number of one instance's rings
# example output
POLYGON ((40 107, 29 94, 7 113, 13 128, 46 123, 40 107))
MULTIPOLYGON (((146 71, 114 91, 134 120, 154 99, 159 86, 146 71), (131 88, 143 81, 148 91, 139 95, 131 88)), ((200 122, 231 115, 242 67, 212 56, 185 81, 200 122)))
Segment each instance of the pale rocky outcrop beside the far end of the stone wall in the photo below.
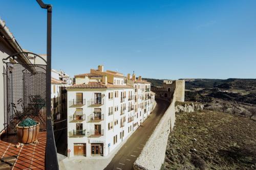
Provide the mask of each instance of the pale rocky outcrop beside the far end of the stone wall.
POLYGON ((204 105, 203 104, 194 104, 194 103, 184 103, 182 105, 178 104, 175 106, 175 112, 180 113, 180 112, 195 112, 198 110, 203 110, 204 105))

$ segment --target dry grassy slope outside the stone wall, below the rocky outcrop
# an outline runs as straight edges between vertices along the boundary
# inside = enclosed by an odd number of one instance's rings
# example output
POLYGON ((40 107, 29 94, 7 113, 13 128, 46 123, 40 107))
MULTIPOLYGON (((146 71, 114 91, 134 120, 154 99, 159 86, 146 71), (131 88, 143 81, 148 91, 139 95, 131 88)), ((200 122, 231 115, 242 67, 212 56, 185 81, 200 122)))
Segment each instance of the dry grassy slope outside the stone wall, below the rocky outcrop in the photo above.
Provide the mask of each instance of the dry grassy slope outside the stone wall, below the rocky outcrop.
POLYGON ((162 169, 256 169, 256 122, 214 111, 177 114, 162 169))

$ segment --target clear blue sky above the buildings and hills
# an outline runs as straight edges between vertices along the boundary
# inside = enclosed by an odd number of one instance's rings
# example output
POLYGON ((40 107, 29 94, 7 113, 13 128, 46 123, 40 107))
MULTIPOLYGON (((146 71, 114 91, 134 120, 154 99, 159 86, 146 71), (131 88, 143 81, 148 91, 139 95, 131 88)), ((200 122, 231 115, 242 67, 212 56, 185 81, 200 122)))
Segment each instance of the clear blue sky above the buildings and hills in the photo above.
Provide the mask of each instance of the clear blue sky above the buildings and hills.
MULTIPOLYGON (((146 78, 256 78, 256 1, 57 1, 52 67, 71 76, 104 68, 146 78)), ((46 53, 46 10, 3 0, 19 44, 46 53)))

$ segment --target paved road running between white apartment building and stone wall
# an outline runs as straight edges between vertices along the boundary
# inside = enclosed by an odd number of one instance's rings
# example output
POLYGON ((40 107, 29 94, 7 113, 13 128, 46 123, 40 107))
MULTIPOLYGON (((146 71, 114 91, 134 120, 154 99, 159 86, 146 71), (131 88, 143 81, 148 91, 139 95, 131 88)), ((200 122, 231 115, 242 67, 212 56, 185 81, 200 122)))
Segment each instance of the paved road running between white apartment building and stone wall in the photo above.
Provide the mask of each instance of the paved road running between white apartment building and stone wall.
POLYGON ((105 170, 133 169, 133 163, 169 106, 169 103, 163 100, 156 100, 156 102, 156 108, 153 110, 150 117, 148 117, 142 124, 142 127, 139 127, 124 143, 108 166, 105 167, 105 170))

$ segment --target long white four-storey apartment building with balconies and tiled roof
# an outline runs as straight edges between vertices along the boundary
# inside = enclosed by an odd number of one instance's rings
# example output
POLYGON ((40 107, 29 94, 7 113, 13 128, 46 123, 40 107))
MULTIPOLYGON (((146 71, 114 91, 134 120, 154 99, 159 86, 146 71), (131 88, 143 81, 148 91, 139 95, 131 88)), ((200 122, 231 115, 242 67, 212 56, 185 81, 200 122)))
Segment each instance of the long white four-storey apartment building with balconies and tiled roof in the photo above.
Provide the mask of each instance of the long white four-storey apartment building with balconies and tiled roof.
MULTIPOLYGON (((110 154, 151 113, 150 83, 133 74, 91 69, 68 90, 70 157, 110 154)), ((154 94, 153 94, 154 95, 154 94)))

